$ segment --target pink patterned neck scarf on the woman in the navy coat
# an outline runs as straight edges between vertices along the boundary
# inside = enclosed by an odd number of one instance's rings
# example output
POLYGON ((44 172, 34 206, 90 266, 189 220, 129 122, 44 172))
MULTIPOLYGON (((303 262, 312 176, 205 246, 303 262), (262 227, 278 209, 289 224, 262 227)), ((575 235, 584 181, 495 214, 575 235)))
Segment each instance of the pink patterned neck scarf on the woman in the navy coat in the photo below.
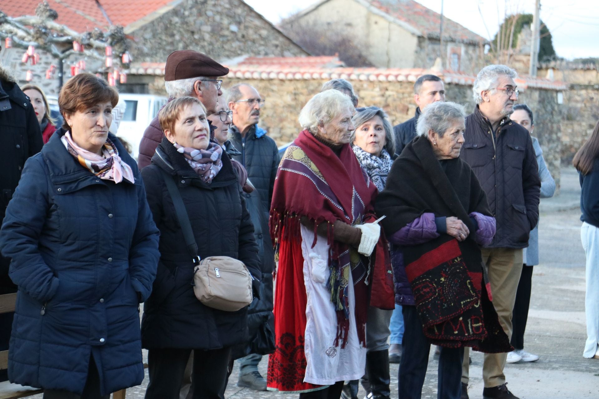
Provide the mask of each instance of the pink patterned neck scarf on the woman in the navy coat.
POLYGON ((130 182, 134 182, 133 170, 131 166, 123 162, 119 157, 114 143, 110 139, 106 139, 102 147, 102 155, 91 153, 79 147, 72 139, 71 132, 66 132, 60 138, 62 144, 65 145, 66 151, 77 159, 81 166, 88 169, 94 175, 104 180, 112 180, 115 183, 120 183, 123 178, 130 182))

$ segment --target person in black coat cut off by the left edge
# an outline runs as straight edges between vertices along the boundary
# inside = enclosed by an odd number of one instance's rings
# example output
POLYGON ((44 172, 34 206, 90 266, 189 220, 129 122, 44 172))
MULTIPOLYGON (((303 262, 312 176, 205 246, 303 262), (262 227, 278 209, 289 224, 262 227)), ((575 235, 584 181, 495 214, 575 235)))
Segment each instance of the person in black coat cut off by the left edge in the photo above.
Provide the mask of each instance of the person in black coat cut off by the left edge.
MULTIPOLYGON (((35 117, 34 107, 29 97, 23 94, 19 85, 0 66, 0 224, 4 213, 19 184, 25 161, 39 153, 44 145, 41 139, 40 124, 35 117)), ((0 255, 0 294, 16 293, 17 287, 8 278, 10 259, 0 255)), ((14 313, 0 315, 0 351, 8 349, 14 313)), ((0 381, 7 380, 6 370, 0 372, 0 381)))

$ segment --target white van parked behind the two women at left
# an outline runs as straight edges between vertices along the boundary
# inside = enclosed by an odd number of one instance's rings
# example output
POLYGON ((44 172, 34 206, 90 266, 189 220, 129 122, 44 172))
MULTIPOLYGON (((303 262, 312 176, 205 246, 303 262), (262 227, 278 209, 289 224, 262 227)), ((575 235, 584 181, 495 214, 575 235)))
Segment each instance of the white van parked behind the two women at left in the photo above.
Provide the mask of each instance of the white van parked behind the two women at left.
POLYGON ((127 108, 120 121, 117 136, 131 144, 132 156, 137 160, 140 141, 146 127, 158 115, 158 111, 167 103, 168 99, 165 96, 129 93, 119 93, 119 99, 125 100, 127 108))

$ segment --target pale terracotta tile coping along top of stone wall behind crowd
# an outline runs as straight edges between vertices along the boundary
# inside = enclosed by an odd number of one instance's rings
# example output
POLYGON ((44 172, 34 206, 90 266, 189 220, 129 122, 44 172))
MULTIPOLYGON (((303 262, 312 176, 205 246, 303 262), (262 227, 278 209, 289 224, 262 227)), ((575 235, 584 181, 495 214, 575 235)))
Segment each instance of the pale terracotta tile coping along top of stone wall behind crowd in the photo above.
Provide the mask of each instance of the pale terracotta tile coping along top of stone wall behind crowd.
MULTIPOLYGON (((133 63, 129 74, 164 75, 165 63, 133 63), (144 66, 144 64, 147 64, 144 66)), ((455 71, 432 71, 425 68, 294 68, 279 65, 264 65, 246 68, 230 66, 229 79, 255 80, 328 80, 343 78, 349 81, 415 82, 420 76, 434 74, 443 78, 445 83, 471 86, 476 77, 455 71)), ((527 89, 566 90, 567 84, 542 78, 520 77, 516 79, 518 87, 527 89)))

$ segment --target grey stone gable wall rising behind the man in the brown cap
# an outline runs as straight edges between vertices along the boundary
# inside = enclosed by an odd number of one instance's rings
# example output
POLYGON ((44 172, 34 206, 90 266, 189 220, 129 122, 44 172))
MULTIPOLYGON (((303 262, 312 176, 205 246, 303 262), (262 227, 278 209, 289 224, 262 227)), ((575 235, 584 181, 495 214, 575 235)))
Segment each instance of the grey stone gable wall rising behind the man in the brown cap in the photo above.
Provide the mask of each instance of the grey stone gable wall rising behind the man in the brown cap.
POLYGON ((128 35, 135 62, 165 62, 168 54, 186 49, 219 61, 309 55, 240 0, 184 0, 128 35))

